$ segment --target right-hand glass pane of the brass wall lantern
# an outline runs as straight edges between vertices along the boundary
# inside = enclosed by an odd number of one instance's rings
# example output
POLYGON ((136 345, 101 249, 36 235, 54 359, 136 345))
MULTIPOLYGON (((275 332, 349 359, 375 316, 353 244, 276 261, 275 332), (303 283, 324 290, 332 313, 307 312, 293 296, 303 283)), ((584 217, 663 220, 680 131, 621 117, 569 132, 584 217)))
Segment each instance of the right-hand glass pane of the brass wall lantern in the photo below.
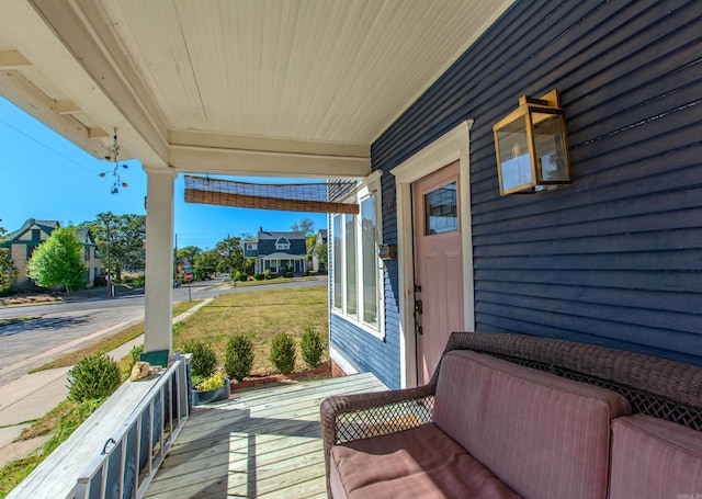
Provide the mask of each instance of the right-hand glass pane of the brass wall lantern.
POLYGON ((568 181, 568 163, 561 114, 532 112, 536 170, 540 181, 568 181))

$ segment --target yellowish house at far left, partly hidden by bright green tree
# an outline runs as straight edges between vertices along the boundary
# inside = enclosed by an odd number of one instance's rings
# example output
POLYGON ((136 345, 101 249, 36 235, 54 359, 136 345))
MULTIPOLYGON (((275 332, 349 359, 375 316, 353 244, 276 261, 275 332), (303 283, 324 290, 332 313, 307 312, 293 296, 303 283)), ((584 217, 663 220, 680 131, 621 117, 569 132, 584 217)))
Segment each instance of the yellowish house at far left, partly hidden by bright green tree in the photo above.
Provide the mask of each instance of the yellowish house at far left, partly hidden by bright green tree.
MULTIPOLYGON (((26 275, 26 265, 36 247, 48 239, 52 233, 60 226, 58 220, 30 218, 18 230, 10 233, 3 246, 10 248, 10 258, 18 271, 10 285, 12 291, 34 286, 34 281, 26 275)), ((90 229, 78 228, 76 233, 83 243, 83 264, 88 268, 86 271, 87 287, 92 287, 102 268, 98 246, 90 229)))

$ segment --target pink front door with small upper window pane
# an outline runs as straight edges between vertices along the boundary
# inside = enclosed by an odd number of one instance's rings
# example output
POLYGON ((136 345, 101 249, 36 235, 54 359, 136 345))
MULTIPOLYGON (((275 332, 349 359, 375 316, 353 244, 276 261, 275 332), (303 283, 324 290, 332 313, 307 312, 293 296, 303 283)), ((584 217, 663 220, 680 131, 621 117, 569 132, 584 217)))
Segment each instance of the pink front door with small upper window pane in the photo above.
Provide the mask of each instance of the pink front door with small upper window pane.
POLYGON ((464 329, 460 171, 455 161, 412 183, 419 384, 431 378, 451 332, 464 329))

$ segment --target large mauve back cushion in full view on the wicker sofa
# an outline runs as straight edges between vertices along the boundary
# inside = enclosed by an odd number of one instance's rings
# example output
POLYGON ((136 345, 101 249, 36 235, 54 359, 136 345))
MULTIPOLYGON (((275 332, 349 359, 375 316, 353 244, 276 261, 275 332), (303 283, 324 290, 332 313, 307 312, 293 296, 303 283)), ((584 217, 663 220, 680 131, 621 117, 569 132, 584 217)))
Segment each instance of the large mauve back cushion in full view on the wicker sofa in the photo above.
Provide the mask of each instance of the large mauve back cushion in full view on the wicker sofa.
POLYGON ((605 498, 619 394, 471 351, 444 355, 434 421, 528 499, 605 498))

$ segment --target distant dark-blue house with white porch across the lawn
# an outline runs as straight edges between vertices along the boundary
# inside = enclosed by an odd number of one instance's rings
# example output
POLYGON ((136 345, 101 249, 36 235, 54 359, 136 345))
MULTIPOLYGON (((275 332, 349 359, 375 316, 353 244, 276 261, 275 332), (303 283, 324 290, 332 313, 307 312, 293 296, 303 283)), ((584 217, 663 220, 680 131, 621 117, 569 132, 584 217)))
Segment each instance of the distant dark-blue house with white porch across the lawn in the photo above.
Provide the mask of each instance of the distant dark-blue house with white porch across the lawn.
POLYGON ((244 257, 256 258, 254 272, 270 270, 274 274, 307 272, 305 234, 265 231, 260 228, 256 241, 244 241, 244 257))

